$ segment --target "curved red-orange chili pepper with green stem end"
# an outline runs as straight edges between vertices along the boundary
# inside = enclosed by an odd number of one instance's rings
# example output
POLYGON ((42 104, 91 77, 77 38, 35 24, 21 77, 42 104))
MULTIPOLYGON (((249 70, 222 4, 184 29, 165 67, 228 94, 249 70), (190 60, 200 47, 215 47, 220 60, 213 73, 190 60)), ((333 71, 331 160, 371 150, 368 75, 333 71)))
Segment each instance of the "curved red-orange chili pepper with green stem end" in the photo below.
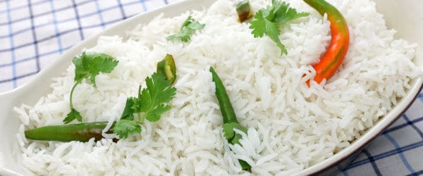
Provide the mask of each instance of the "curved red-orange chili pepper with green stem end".
MULTIPOLYGON (((329 48, 320 61, 313 65, 316 70, 314 81, 320 83, 322 80, 329 80, 333 74, 336 73, 350 44, 350 33, 348 32, 348 25, 343 18, 343 15, 334 6, 324 0, 304 0, 309 6, 316 9, 321 15, 327 14, 329 22, 331 22, 332 39, 329 48)), ((307 80, 309 85, 309 80, 307 80)))

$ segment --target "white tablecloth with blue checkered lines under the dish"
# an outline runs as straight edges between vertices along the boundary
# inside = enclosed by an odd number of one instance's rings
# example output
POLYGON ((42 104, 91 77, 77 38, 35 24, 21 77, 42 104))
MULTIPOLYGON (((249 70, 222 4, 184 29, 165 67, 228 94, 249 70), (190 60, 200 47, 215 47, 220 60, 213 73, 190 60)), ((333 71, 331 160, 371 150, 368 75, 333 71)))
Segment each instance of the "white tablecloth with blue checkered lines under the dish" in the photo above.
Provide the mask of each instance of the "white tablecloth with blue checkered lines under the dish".
MULTIPOLYGON (((28 82, 73 44, 175 0, 0 0, 0 92, 28 82)), ((338 175, 423 175, 423 94, 338 175)))

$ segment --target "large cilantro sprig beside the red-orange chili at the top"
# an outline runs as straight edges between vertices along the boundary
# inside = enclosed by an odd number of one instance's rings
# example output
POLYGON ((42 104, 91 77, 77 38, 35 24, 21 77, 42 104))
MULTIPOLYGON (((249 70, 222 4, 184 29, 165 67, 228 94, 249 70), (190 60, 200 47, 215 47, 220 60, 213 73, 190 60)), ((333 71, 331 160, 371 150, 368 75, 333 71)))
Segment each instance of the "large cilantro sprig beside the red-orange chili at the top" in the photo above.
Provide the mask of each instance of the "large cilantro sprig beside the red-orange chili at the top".
POLYGON ((263 37, 266 34, 281 49, 281 54, 288 54, 285 46, 279 39, 279 26, 288 23, 290 20, 309 15, 309 13, 298 13, 295 8, 290 8, 286 2, 272 0, 272 5, 260 9, 254 16, 254 20, 250 23, 250 29, 254 37, 263 37))

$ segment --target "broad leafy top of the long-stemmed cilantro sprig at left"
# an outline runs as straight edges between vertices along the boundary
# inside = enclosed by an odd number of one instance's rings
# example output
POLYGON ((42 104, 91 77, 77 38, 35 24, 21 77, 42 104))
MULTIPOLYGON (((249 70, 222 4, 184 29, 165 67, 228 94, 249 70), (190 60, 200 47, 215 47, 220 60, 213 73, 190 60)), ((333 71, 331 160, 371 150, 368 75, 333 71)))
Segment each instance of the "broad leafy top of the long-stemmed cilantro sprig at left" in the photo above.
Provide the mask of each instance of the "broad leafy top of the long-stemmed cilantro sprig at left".
POLYGON ((75 82, 80 83, 89 78, 94 87, 97 87, 95 77, 99 73, 111 73, 118 65, 112 56, 94 52, 83 52, 81 56, 73 58, 72 62, 75 65, 75 82))

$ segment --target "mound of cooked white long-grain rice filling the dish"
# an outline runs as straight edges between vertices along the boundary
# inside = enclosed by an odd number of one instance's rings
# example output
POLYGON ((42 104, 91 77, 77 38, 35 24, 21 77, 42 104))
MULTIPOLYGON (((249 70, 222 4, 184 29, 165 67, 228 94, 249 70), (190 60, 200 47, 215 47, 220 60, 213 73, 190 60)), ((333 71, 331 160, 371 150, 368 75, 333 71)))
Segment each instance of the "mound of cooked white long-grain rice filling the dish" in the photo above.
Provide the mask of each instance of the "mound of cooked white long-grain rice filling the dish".
MULTIPOLYGON (((23 165, 35 175, 228 175, 240 171, 238 158, 253 175, 291 175, 324 161, 350 145, 396 106, 421 75, 412 63, 415 45, 394 39, 369 0, 329 0, 348 21, 350 49, 328 82, 307 87, 312 65, 331 40, 329 21, 303 1, 287 0, 306 18, 281 27, 282 55, 269 37, 254 38, 238 23, 233 1, 216 1, 205 11, 155 18, 128 36, 100 37, 87 51, 110 54, 119 64, 97 76, 97 88, 80 84, 73 97, 84 122, 118 120, 128 96, 145 86, 166 54, 176 60, 177 94, 159 122, 117 143, 40 142, 24 130, 61 125, 69 109, 74 67, 54 78, 50 94, 33 106, 16 108, 23 125, 17 134, 23 165), (191 41, 166 41, 192 15, 204 29, 191 41), (225 84, 240 123, 243 146, 228 145, 209 73, 213 66, 225 84), (305 77, 302 75, 306 74, 305 77)), ((270 0, 251 1, 254 11, 270 0)), ((238 131, 239 132, 239 131, 238 131)))

